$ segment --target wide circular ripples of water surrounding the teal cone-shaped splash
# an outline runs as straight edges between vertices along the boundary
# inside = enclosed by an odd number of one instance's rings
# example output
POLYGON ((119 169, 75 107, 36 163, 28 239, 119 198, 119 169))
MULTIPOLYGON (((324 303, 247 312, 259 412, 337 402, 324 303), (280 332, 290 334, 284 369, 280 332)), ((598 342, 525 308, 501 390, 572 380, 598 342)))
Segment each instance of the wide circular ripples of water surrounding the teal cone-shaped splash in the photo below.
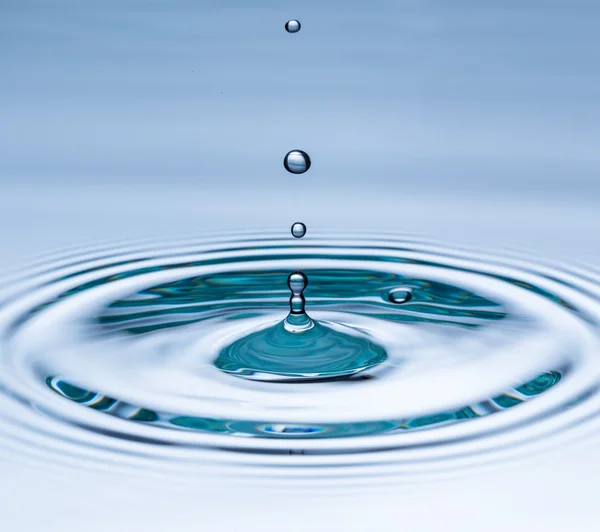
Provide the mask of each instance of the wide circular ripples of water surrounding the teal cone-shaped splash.
POLYGON ((188 480, 483 467, 592 430, 599 297, 590 272, 389 236, 233 235, 54 257, 0 290, 0 447, 188 480), (331 382, 221 371, 223 349, 285 317, 298 269, 310 315, 387 358, 331 382), (411 296, 401 305, 398 288, 411 296))

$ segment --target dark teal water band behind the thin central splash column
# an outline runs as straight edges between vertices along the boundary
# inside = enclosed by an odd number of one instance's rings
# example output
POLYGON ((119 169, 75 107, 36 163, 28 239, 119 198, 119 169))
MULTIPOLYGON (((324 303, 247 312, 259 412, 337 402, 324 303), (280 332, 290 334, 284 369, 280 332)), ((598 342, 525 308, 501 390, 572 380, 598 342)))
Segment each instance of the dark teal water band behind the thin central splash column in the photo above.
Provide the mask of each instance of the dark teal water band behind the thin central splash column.
MULTIPOLYGON (((290 248, 290 251, 293 249, 290 248)), ((292 258, 314 256, 312 253, 294 254, 292 258)), ((251 262, 260 258, 257 254, 256 258, 251 258, 251 262)), ((276 263, 278 257, 268 258, 276 263)), ((287 255, 281 258, 287 258, 287 255)), ((360 258, 358 256, 354 260, 360 258)), ((193 267, 194 263, 181 263, 178 266, 193 267)), ((347 313, 396 323, 446 323, 463 328, 477 328, 482 323, 506 317, 500 303, 465 287, 386 272, 384 267, 381 266, 380 270, 305 268, 304 272, 310 278, 304 292, 309 300, 309 310, 335 310, 343 305, 347 313), (402 306, 402 309, 389 299, 390 293, 398 286, 413 290, 409 304, 402 306)), ((150 273, 160 271, 160 268, 144 271, 150 273)), ((125 279, 135 274, 134 271, 113 279, 125 279)), ((248 316, 248 313, 279 311, 285 316, 289 299, 288 275, 288 271, 275 268, 270 271, 234 270, 184 277, 144 288, 127 298, 111 302, 96 320, 108 330, 135 334, 180 324, 189 325, 225 310, 236 310, 233 314, 227 314, 227 319, 236 319, 242 312, 248 316)), ((110 281, 110 278, 101 278, 93 283, 110 281)), ((81 289, 86 290, 91 286, 86 284, 81 289)), ((59 297, 68 295, 71 293, 59 297)))

